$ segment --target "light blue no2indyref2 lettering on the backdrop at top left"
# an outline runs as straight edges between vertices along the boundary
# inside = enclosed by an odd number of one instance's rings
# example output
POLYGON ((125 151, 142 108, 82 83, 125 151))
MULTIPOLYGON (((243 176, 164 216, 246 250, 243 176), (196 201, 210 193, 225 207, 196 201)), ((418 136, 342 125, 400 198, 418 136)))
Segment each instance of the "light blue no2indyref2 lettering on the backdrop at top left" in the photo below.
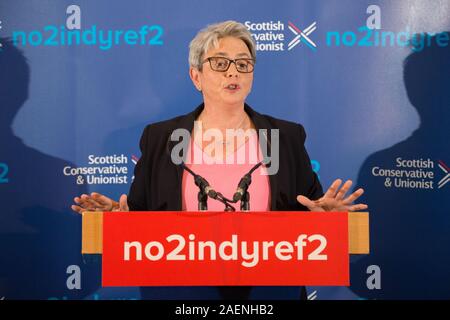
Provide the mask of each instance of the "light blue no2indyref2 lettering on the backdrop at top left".
POLYGON ((22 46, 94 46, 109 50, 116 46, 163 45, 164 29, 160 25, 143 25, 138 29, 100 29, 95 24, 82 27, 81 8, 70 5, 66 9, 65 26, 46 25, 41 30, 14 30, 14 45, 22 46))

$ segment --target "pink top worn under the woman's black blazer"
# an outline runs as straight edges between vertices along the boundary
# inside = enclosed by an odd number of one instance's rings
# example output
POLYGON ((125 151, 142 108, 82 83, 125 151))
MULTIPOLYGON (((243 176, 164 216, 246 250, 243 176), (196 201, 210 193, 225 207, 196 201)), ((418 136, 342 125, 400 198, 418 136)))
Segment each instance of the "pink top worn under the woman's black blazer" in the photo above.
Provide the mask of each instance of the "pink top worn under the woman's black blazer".
MULTIPOLYGON (((228 199, 233 198, 240 179, 262 159, 256 131, 236 152, 229 154, 222 164, 215 162, 214 157, 203 152, 194 139, 191 139, 188 155, 190 157, 188 156, 186 166, 208 180, 214 190, 228 199)), ((252 173, 252 183, 248 189, 250 211, 270 210, 269 176, 264 175, 263 172, 267 170, 264 165, 261 165, 252 173)), ((198 211, 198 190, 194 177, 185 170, 182 182, 183 211, 198 211)), ((240 201, 233 205, 236 211, 240 211, 240 201)), ((223 211, 224 207, 221 202, 208 198, 208 211, 223 211)))

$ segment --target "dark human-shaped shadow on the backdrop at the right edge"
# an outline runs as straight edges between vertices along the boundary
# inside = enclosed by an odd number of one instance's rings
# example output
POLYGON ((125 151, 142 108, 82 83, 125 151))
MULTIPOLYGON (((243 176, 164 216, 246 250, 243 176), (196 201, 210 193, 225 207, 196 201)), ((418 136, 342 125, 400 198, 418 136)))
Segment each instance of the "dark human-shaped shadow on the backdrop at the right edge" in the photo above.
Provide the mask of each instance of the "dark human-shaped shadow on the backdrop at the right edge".
POLYGON ((370 209, 371 253, 351 264, 351 289, 363 298, 450 298, 450 46, 438 46, 436 36, 431 44, 404 62, 404 82, 420 116, 419 128, 370 155, 359 172, 357 185, 366 188, 362 201, 370 209), (398 167, 401 160, 423 161, 411 161, 407 168, 398 167), (430 171, 433 177, 404 176, 400 182, 398 177, 374 176, 377 168, 430 171), (381 289, 366 285, 370 265, 380 267, 381 289))

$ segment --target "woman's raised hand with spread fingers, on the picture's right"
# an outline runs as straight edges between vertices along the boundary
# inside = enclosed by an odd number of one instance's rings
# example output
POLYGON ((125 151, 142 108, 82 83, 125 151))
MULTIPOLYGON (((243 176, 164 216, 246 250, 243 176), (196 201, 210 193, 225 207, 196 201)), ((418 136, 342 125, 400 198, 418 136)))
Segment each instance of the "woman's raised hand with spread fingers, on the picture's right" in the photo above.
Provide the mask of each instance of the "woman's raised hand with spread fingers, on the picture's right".
POLYGON ((366 204, 353 204, 363 193, 364 189, 359 188, 348 197, 345 197, 347 191, 352 186, 352 181, 347 180, 341 188, 341 179, 335 180, 330 188, 325 192, 322 198, 317 200, 310 200, 305 196, 297 196, 297 201, 307 207, 311 211, 359 211, 368 208, 366 204))

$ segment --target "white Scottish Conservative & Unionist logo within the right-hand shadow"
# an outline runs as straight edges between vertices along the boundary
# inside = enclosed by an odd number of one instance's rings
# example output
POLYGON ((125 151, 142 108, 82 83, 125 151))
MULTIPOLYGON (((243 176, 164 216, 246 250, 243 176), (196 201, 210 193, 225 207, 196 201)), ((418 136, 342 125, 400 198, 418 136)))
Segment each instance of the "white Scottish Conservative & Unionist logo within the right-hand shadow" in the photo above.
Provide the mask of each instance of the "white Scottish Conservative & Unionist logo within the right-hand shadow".
POLYGON ((429 158, 397 157, 393 166, 374 166, 371 173, 374 177, 382 178, 388 189, 436 189, 436 185, 440 189, 450 180, 449 168, 445 163, 442 160, 435 163, 429 158), (444 172, 444 177, 435 174, 436 167, 444 172))

